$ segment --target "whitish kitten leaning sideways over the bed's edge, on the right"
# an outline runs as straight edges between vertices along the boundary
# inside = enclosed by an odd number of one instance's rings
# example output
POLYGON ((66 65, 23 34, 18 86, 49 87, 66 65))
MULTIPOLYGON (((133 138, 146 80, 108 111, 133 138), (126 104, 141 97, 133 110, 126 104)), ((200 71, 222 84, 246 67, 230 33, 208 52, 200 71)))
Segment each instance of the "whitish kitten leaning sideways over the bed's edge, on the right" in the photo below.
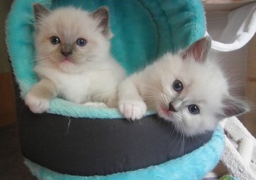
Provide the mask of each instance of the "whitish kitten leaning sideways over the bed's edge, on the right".
POLYGON ((184 52, 167 53, 118 86, 119 109, 139 120, 146 109, 173 122, 176 130, 193 136, 214 130, 219 120, 249 111, 229 93, 222 70, 207 59, 211 39, 205 37, 184 52))

